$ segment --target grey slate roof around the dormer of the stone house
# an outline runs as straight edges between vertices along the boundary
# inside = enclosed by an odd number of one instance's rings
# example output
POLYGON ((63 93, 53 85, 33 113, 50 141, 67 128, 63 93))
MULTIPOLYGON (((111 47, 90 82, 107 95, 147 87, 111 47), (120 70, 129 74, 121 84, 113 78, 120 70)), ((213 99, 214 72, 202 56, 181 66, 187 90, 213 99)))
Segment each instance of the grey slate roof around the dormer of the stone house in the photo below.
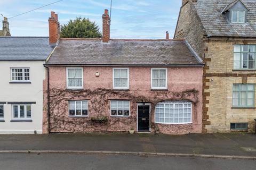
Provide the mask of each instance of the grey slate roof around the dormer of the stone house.
POLYGON ((208 37, 256 37, 256 1, 242 0, 249 8, 247 22, 244 24, 229 23, 222 10, 233 5, 234 0, 197 0, 193 3, 208 37))

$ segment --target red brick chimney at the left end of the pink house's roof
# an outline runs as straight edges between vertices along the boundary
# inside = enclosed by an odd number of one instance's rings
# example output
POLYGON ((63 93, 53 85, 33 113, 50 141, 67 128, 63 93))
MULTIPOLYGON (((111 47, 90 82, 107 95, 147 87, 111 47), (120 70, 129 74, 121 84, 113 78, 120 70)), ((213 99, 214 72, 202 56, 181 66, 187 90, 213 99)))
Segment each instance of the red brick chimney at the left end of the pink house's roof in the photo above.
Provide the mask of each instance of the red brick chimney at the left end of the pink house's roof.
POLYGON ((58 21, 58 15, 55 12, 51 12, 49 18, 49 43, 56 44, 60 38, 60 23, 58 21))

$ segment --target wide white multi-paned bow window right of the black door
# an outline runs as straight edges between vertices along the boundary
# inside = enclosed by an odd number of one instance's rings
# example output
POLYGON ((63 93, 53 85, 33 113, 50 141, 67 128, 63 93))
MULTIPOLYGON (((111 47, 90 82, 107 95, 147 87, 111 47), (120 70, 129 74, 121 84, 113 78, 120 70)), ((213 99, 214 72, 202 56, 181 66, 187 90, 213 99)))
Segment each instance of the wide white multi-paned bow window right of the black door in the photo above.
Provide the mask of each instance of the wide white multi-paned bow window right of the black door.
POLYGON ((191 123, 191 103, 163 102, 155 109, 155 123, 183 124, 191 123))

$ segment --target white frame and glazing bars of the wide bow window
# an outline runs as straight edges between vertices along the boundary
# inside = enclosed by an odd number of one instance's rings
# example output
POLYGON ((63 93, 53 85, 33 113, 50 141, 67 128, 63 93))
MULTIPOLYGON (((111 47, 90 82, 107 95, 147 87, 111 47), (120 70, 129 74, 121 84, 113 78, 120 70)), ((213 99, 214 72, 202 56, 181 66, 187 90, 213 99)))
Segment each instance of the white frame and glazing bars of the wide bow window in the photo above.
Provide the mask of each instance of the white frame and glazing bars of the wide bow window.
MULTIPOLYGON (((157 122, 156 121, 156 107, 155 107, 155 123, 159 123, 159 124, 191 124, 191 123, 193 123, 192 122, 192 112, 193 112, 193 105, 192 105, 192 103, 191 102, 170 102, 170 101, 166 101, 166 102, 161 102, 161 103, 158 103, 158 104, 173 104, 173 105, 175 105, 175 104, 178 104, 178 105, 180 105, 180 104, 182 104, 182 120, 184 120, 184 105, 185 104, 190 104, 190 122, 182 122, 182 123, 174 123, 174 113, 173 113, 173 123, 168 123, 168 122, 157 122)), ((174 108, 174 107, 173 107, 174 108)), ((188 107, 186 107, 186 109, 187 109, 188 107)), ((165 109, 165 107, 163 108, 163 109, 165 109)), ((179 109, 179 108, 178 108, 179 109)), ((174 112, 174 109, 173 109, 173 112, 174 112)), ((179 113, 178 113, 179 114, 179 113)), ((188 118, 188 117, 187 117, 188 118)), ((164 111, 164 121, 165 121, 165 111, 164 111)))

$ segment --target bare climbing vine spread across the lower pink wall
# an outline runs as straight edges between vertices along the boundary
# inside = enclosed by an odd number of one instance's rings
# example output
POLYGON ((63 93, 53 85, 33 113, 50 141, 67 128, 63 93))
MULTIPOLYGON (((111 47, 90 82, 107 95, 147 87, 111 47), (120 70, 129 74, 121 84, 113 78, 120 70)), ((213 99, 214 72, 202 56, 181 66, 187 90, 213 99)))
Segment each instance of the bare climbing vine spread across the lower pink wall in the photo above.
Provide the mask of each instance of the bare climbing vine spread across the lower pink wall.
MULTIPOLYGON (((181 92, 173 91, 115 91, 113 89, 85 89, 72 91, 53 88, 50 94, 49 132, 95 132, 95 131, 128 131, 137 125, 137 103, 150 103, 150 126, 157 133, 154 111, 157 103, 169 100, 187 100, 196 105, 198 90, 190 89, 181 92), (130 117, 110 117, 110 100, 130 100, 130 117), (89 100, 89 117, 68 117, 69 100, 89 100), (103 122, 97 118, 107 117, 103 122)), ((195 113, 195 117, 196 113, 195 113)))

